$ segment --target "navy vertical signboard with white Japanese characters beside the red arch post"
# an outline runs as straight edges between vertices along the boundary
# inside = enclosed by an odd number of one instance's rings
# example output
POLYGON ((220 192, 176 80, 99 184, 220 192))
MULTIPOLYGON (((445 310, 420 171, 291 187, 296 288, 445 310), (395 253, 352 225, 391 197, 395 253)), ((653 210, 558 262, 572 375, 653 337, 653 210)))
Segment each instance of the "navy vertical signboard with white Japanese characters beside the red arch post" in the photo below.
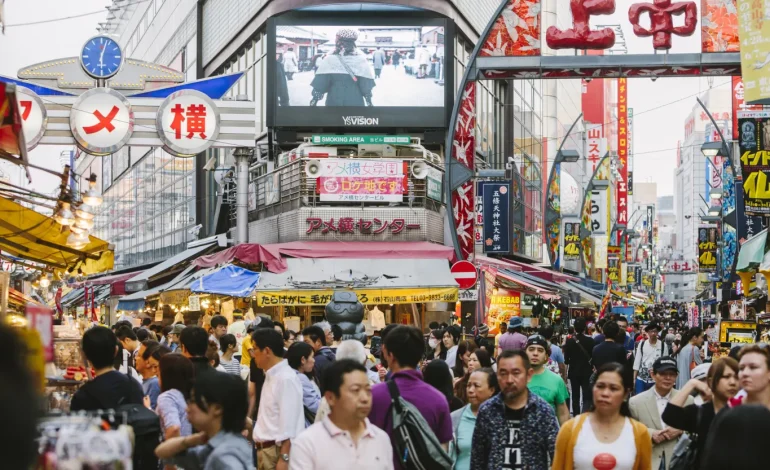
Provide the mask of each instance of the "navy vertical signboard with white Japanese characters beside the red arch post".
POLYGON ((485 182, 484 253, 510 253, 511 183, 485 182))

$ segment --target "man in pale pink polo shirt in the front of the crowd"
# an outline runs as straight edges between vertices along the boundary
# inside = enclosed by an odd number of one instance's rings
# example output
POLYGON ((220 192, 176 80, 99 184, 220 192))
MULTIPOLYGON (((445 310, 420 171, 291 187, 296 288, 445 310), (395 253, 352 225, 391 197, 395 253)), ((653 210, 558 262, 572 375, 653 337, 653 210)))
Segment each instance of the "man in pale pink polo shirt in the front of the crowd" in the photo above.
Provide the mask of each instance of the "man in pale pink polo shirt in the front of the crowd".
POLYGON ((352 359, 338 359, 323 379, 331 412, 294 440, 289 468, 393 469, 388 435, 367 419, 372 391, 366 368, 352 359))

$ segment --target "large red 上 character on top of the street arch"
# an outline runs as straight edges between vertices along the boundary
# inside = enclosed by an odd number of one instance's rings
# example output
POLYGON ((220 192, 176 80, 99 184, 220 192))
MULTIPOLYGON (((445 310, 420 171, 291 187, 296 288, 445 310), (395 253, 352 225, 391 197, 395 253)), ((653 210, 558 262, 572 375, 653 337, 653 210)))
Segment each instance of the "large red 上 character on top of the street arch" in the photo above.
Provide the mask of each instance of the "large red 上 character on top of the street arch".
POLYGON ((615 45, 615 31, 611 28, 592 30, 593 15, 615 13, 615 0, 570 0, 572 24, 561 30, 551 26, 545 32, 545 41, 551 49, 609 49, 615 45))

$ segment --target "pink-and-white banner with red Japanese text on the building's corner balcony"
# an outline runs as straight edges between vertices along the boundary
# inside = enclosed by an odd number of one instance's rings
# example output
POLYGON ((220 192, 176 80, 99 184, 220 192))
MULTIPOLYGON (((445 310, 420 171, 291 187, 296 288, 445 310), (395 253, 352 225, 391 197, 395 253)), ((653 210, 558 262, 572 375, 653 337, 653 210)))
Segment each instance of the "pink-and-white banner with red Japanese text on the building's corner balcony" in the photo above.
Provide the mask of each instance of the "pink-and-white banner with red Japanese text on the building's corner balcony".
POLYGON ((321 177, 316 188, 322 201, 401 202, 407 189, 405 179, 321 177))

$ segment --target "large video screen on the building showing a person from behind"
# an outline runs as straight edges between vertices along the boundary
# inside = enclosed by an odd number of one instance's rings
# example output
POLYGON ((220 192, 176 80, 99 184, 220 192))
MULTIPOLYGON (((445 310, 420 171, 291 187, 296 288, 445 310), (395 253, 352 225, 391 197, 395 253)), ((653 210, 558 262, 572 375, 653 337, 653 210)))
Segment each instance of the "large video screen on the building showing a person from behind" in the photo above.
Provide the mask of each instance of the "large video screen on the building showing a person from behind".
POLYGON ((445 127, 453 86, 446 21, 407 21, 274 20, 272 125, 445 127))

